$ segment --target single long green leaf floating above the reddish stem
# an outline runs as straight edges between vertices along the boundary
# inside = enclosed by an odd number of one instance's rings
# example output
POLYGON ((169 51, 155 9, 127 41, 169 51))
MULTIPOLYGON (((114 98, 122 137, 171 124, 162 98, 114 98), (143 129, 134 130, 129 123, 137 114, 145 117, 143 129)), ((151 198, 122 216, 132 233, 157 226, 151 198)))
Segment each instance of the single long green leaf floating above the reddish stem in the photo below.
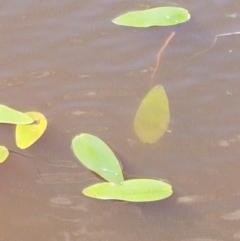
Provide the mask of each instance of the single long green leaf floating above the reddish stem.
POLYGON ((190 19, 189 12, 179 7, 156 7, 128 12, 113 19, 117 25, 146 28, 152 26, 171 26, 190 19))

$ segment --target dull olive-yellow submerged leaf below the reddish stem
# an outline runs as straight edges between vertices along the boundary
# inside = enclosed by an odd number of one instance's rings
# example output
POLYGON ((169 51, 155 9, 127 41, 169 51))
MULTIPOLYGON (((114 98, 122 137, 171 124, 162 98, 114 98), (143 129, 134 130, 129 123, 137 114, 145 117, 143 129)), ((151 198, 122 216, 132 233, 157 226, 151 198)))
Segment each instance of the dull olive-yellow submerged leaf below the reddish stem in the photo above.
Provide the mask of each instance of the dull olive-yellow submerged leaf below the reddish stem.
POLYGON ((151 89, 139 106, 134 129, 144 143, 157 142, 166 132, 170 121, 169 103, 161 85, 151 89))

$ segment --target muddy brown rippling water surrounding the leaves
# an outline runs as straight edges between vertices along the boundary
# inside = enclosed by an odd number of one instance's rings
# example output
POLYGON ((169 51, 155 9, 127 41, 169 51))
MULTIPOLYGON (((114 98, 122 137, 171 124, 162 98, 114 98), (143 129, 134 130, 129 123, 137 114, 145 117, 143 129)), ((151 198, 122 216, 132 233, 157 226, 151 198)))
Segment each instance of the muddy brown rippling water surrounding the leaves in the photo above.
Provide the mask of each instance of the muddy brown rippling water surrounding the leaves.
MULTIPOLYGON (((40 111, 45 135, 0 167, 0 240, 96 241, 240 239, 240 35, 238 1, 2 1, 0 101, 40 111), (111 19, 157 5, 189 9, 178 27, 134 29, 111 19), (133 118, 157 72, 171 108, 171 132, 139 142, 133 118), (82 132, 105 140, 130 175, 167 179, 160 202, 98 201, 81 190, 98 179, 70 149, 82 132)), ((2 145, 17 150, 14 128, 2 145)))

